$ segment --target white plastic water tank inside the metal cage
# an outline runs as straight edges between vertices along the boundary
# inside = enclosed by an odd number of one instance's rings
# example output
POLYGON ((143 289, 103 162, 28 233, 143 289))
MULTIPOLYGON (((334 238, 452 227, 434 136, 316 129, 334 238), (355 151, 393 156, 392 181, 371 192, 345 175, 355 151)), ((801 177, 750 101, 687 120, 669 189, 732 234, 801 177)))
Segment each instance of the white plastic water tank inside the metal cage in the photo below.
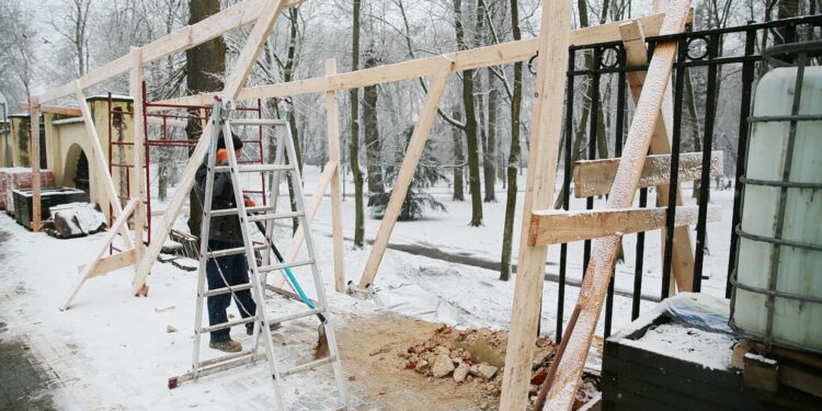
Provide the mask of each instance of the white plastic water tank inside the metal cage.
MULTIPOLYGON (((791 115, 797 68, 777 68, 756 87, 754 116, 791 115)), ((801 88, 800 115, 822 114, 822 67, 806 67, 801 88)), ((774 238, 778 224, 781 187, 755 181, 781 181, 788 156, 790 122, 756 122, 749 140, 747 172, 734 287, 731 324, 744 334, 775 345, 822 353, 822 190, 787 190, 781 239, 812 244, 778 250, 776 272, 772 272, 777 247, 763 239, 774 238), (758 237, 756 237, 758 236, 758 237), (815 248, 815 250, 814 250, 815 248), (768 327, 766 293, 776 275, 775 290, 811 300, 774 297, 768 327), (815 299, 815 301, 813 300, 815 299), (770 329, 769 329, 770 328, 770 329)), ((797 122, 790 164, 790 182, 822 184, 822 121, 797 122)))

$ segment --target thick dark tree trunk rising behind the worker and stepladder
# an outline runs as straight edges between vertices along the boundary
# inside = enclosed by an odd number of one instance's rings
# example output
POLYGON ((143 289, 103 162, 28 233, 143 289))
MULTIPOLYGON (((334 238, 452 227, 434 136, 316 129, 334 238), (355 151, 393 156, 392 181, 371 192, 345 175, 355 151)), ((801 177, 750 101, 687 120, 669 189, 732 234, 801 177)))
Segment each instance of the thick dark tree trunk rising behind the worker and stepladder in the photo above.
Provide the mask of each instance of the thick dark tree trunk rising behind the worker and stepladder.
MULTIPOLYGON (((219 0, 189 0, 189 24, 195 24, 220 11, 219 0)), ((186 83, 189 93, 198 94, 222 90, 220 76, 226 71, 226 42, 216 37, 185 52, 186 83)), ((199 113, 196 113, 199 114, 199 113)), ((185 128, 189 139, 198 139, 203 129, 198 121, 189 122, 185 128)), ((189 156, 191 156, 191 150, 189 156)), ((192 190, 189 194, 189 230, 199 237, 203 208, 192 190)))

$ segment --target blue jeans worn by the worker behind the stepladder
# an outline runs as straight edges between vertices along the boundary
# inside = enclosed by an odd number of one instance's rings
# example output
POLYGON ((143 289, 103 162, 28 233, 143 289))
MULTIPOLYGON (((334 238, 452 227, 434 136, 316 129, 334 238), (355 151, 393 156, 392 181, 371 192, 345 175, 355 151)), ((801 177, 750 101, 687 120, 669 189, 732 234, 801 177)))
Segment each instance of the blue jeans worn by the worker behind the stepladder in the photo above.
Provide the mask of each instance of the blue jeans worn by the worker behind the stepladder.
MULTIPOLYGON (((210 251, 226 250, 242 247, 231 242, 210 240, 208 248, 210 251)), ((235 254, 208 259, 206 263, 206 278, 208 279, 208 289, 225 288, 227 285, 242 285, 249 282, 249 264, 246 261, 246 254, 235 254), (219 264, 219 269, 217 267, 219 264), (222 276, 220 276, 220 271, 222 276), (222 277, 226 277, 225 282, 222 277), (228 283, 228 284, 226 284, 228 283)), ((235 292, 235 304, 242 318, 254 316, 256 304, 251 298, 251 292, 243 289, 235 292), (243 309, 244 308, 244 309, 243 309)), ((226 309, 231 304, 231 293, 220 294, 208 297, 208 323, 212 326, 220 324, 228 321, 226 309)), ((253 322, 247 323, 246 327, 253 327, 253 322)), ((212 342, 228 341, 230 329, 212 331, 212 342)))

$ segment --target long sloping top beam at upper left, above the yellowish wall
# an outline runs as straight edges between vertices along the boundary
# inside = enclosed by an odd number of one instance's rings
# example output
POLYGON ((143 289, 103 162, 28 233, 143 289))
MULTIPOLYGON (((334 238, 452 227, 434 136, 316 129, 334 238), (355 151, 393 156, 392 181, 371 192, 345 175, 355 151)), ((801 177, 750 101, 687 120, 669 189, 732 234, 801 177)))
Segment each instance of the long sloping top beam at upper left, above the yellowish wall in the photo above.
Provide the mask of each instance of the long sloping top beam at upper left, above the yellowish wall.
MULTIPOLYGON (((286 8, 292 8, 306 0, 288 0, 286 8)), ((246 0, 220 11, 203 21, 182 27, 174 33, 167 34, 148 45, 142 46, 141 62, 155 61, 172 53, 183 52, 212 38, 218 37, 231 30, 243 26, 259 18, 260 8, 265 0, 246 0)), ((110 61, 78 79, 80 87, 87 89, 101 83, 112 77, 122 75, 134 67, 134 58, 126 54, 110 61)), ((64 98, 75 92, 75 81, 50 90, 39 96, 42 103, 64 98)))

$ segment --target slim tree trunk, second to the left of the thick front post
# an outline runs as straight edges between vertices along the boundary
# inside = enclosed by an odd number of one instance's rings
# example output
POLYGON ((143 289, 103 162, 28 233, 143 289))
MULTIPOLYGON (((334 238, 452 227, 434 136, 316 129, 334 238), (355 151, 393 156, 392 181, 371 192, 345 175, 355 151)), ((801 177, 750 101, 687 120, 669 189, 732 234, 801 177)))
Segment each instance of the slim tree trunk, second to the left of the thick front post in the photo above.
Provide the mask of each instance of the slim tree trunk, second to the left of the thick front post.
MULTIPOLYGON (((454 23, 457 48, 468 49, 463 30, 461 0, 454 0, 454 23)), ((471 227, 482 225, 482 191, 479 173, 479 140, 477 137, 477 114, 473 107, 473 70, 463 71, 463 106, 465 110, 465 135, 468 146, 468 189, 471 192, 471 227)))

